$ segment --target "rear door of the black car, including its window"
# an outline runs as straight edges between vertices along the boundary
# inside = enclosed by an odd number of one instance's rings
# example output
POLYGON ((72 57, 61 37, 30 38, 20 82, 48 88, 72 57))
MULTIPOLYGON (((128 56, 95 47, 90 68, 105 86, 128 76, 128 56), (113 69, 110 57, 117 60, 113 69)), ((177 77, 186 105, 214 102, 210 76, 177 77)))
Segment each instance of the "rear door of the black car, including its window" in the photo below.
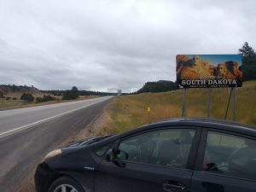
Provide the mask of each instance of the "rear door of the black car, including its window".
POLYGON ((255 137, 203 131, 191 192, 213 191, 256 191, 255 137))

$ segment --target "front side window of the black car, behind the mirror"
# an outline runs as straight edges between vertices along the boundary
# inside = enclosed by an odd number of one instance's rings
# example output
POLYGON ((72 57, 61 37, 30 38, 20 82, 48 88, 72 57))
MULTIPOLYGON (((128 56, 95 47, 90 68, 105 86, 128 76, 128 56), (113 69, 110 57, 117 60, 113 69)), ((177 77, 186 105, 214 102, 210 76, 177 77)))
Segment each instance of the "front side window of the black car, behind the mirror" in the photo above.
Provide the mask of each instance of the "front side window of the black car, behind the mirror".
POLYGON ((116 159, 159 166, 185 167, 195 130, 166 129, 127 138, 119 143, 116 159))

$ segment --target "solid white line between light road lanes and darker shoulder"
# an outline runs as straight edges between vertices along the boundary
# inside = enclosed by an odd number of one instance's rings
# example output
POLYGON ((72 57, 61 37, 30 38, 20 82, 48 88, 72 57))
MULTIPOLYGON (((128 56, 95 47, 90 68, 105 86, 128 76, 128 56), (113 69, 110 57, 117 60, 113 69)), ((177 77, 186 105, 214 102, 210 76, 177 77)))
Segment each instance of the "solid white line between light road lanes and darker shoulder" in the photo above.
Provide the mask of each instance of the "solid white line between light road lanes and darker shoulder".
MULTIPOLYGON (((97 102, 96 102, 96 103, 97 103, 97 102)), ((83 106, 83 107, 81 107, 81 108, 87 108, 87 107, 89 107, 89 106, 91 106, 91 105, 95 105, 96 103, 91 103, 91 104, 86 105, 86 106, 83 106)), ((38 121, 36 121, 36 122, 33 122, 32 124, 23 125, 23 126, 14 128, 14 129, 12 129, 12 130, 10 130, 10 131, 2 132, 2 133, 0 133, 0 138, 1 138, 2 136, 4 136, 4 135, 7 135, 7 136, 11 135, 11 134, 9 134, 9 133, 11 133, 11 132, 17 132, 17 131, 22 130, 22 129, 24 129, 24 128, 29 128, 29 127, 31 127, 32 125, 38 125, 38 124, 43 123, 44 121, 47 121, 47 120, 49 120, 49 119, 55 119, 55 118, 60 117, 60 116, 62 116, 62 115, 64 115, 64 114, 72 113, 72 112, 74 112, 74 111, 77 111, 77 110, 79 110, 79 109, 81 109, 81 108, 75 108, 75 109, 72 109, 72 110, 67 111, 67 112, 65 112, 65 113, 60 113, 60 114, 57 114, 57 115, 55 115, 55 116, 52 116, 52 117, 49 117, 49 118, 46 118, 46 119, 38 120, 38 121)))

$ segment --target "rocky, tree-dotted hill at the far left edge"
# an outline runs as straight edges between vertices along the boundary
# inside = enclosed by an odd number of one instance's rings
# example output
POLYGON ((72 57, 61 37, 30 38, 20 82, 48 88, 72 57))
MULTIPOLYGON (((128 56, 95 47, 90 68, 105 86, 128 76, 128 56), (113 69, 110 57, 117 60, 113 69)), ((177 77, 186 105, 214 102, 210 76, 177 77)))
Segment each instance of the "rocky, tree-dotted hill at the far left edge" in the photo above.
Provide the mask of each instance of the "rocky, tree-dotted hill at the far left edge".
POLYGON ((13 92, 20 92, 20 93, 31 93, 31 94, 34 94, 34 93, 38 93, 39 90, 34 87, 34 86, 18 86, 18 85, 15 85, 15 84, 0 84, 0 95, 7 95, 9 93, 13 93, 13 92))

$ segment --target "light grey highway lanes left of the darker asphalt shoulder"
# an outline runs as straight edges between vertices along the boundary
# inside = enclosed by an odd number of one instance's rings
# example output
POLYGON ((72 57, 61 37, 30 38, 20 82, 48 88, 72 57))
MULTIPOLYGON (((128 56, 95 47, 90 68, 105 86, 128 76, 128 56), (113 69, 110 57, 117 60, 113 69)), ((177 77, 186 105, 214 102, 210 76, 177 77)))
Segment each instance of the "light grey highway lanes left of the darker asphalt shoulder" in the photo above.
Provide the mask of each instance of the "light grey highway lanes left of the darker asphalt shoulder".
POLYGON ((81 108, 87 108, 97 102, 106 101, 111 96, 100 97, 79 102, 64 102, 32 108, 18 108, 0 111, 0 138, 40 124, 50 119, 73 113, 81 108))

